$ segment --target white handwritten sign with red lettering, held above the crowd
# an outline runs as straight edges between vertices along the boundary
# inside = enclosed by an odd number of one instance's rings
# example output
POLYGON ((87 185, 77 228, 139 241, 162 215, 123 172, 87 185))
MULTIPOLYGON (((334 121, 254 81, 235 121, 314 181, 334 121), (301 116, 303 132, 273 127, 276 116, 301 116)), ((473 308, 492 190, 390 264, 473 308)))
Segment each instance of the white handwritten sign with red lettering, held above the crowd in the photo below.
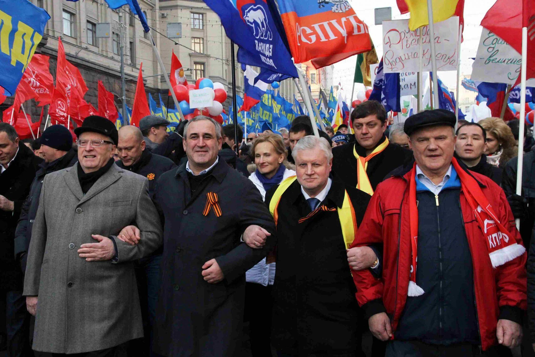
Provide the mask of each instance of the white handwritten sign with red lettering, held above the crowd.
MULTIPOLYGON (((430 31, 427 26, 410 31, 409 20, 383 21, 383 66, 385 73, 417 72, 419 36, 422 31, 423 70, 431 71, 430 31)), ((438 71, 457 70, 457 16, 434 24, 438 71)))

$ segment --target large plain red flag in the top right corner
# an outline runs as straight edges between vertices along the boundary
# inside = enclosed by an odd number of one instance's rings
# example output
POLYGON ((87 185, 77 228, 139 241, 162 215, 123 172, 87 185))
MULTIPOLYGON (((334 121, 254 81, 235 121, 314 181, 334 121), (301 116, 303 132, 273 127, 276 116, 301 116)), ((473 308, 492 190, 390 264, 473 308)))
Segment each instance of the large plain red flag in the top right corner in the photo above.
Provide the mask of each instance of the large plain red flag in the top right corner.
MULTIPOLYGON (((498 0, 487 11, 481 26, 492 31, 522 54, 522 25, 528 27, 526 78, 535 78, 535 4, 528 0, 498 0)), ((517 83, 520 82, 518 75, 517 83)))

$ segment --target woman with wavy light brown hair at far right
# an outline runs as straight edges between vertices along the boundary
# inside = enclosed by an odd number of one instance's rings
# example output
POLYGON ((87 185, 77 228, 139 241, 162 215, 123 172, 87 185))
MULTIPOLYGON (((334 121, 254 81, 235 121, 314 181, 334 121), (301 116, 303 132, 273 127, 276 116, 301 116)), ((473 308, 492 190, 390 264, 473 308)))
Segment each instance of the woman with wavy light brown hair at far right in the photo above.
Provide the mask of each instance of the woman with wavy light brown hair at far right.
POLYGON ((507 162, 517 156, 516 141, 511 128, 500 118, 486 118, 478 121, 487 133, 486 149, 487 162, 496 166, 505 166, 507 162))

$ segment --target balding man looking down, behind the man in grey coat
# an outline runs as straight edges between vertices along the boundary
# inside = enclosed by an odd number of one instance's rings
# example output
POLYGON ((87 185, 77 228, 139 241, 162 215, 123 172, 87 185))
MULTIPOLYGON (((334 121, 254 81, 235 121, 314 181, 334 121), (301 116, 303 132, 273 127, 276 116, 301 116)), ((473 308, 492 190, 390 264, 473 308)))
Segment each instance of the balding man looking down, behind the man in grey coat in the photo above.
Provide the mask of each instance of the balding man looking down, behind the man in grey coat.
MULTIPOLYGON (((177 167, 169 158, 151 153, 145 146, 141 131, 133 125, 123 126, 119 129, 117 151, 120 157, 120 160, 116 162, 117 166, 146 177, 149 180, 149 194, 151 197, 156 187, 156 180, 161 174, 177 167)), ((135 262, 145 337, 131 344, 129 348, 144 356, 150 355, 151 339, 149 337, 152 335, 152 325, 154 324, 158 289, 160 287, 162 251, 163 249, 159 248, 151 255, 135 262)))

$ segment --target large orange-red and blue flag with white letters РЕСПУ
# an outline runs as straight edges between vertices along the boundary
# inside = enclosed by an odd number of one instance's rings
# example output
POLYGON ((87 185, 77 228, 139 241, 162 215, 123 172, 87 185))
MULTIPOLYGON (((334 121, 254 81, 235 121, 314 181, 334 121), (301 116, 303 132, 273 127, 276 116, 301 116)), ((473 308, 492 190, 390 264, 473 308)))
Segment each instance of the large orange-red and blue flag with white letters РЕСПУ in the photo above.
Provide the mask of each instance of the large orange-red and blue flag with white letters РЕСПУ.
MULTIPOLYGON (((310 60, 319 69, 371 50, 368 26, 349 3, 331 2, 328 6, 318 6, 316 0, 277 2, 295 63, 310 60)), ((262 49, 261 44, 257 43, 257 50, 271 52, 269 48, 262 49)))

